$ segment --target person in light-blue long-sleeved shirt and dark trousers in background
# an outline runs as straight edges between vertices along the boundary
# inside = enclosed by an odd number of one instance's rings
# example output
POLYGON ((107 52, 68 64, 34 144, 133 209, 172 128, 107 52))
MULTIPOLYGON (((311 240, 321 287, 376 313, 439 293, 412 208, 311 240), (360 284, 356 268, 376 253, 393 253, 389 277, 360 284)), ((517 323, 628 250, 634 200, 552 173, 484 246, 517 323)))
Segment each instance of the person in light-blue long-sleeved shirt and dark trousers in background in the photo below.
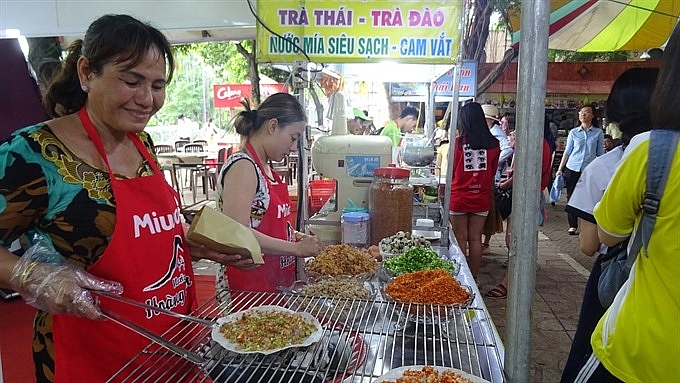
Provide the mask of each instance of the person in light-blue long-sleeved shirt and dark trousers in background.
MULTIPOLYGON (((585 169, 588 164, 604 154, 604 132, 602 129, 593 126, 593 119, 595 118, 595 109, 592 105, 585 105, 578 112, 578 119, 581 125, 569 131, 567 136, 567 146, 564 148, 564 155, 560 166, 557 168, 555 175, 564 175, 564 181, 567 186, 567 201, 571 197, 571 193, 576 187, 578 179, 581 177, 581 171, 585 169)), ((578 218, 570 213, 567 213, 569 220, 569 234, 578 234, 578 218)))

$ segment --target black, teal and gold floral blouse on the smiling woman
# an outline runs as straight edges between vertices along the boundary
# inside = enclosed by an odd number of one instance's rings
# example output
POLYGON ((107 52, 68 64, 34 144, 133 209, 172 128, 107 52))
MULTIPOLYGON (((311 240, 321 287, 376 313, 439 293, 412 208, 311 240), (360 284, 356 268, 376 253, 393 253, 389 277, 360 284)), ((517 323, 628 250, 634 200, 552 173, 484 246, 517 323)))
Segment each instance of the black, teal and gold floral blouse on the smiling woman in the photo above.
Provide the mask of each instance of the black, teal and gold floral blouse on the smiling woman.
MULTIPOLYGON (((147 133, 140 139, 153 153, 147 133)), ((146 161, 138 176, 153 174, 146 161)), ((44 123, 14 132, 0 145, 0 245, 35 234, 68 262, 87 269, 104 253, 116 223, 109 174, 78 158, 44 123)), ((33 355, 38 382, 54 377, 52 317, 39 311, 33 355)))

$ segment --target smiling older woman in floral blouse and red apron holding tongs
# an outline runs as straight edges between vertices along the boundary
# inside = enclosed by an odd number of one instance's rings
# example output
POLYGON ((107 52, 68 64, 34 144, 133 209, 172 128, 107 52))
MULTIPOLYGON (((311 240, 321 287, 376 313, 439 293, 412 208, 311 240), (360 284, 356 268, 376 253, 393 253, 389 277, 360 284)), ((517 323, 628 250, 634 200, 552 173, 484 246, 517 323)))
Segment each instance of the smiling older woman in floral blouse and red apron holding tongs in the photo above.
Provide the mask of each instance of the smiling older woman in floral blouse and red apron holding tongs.
MULTIPOLYGON (((49 252, 18 258, 0 247, 0 287, 40 309, 33 340, 40 383, 107 381, 149 345, 103 320, 99 307, 157 334, 177 322, 97 290, 183 314, 196 307, 179 196, 143 133, 164 103, 173 65, 161 32, 126 15, 103 16, 74 42, 46 92, 58 118, 0 146, 0 244, 39 233, 49 252)), ((196 250, 216 261, 240 258, 196 250)), ((160 381, 198 376, 185 366, 159 371, 160 381)))

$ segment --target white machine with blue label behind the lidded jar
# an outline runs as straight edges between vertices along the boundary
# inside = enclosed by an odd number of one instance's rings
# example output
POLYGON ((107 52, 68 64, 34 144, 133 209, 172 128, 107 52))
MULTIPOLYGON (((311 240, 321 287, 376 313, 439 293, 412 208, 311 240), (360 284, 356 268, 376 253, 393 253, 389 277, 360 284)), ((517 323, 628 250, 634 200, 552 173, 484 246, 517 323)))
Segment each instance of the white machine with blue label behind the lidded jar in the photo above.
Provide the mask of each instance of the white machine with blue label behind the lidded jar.
POLYGON ((335 193, 307 221, 309 230, 326 243, 340 243, 340 218, 346 207, 368 210, 373 170, 392 162, 392 140, 386 136, 330 135, 312 145, 314 170, 336 181, 335 193), (351 201, 351 202, 350 202, 351 201), (354 206, 352 206, 354 204, 354 206))

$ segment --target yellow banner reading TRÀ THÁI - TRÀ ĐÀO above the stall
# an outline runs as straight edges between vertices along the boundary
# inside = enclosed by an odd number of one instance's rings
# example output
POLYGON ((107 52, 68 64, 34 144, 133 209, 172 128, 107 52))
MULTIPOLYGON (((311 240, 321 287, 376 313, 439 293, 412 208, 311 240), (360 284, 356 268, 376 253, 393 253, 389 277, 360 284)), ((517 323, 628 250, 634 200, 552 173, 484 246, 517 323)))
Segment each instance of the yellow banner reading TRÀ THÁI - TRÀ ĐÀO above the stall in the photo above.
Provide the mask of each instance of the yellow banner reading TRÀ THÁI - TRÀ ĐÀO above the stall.
POLYGON ((258 0, 260 62, 455 63, 463 1, 258 0), (275 33, 270 32, 274 31, 275 33))

